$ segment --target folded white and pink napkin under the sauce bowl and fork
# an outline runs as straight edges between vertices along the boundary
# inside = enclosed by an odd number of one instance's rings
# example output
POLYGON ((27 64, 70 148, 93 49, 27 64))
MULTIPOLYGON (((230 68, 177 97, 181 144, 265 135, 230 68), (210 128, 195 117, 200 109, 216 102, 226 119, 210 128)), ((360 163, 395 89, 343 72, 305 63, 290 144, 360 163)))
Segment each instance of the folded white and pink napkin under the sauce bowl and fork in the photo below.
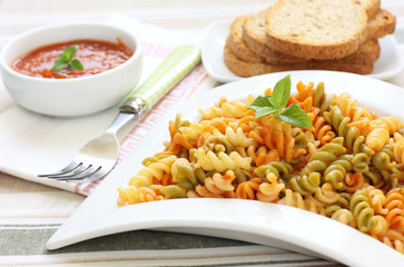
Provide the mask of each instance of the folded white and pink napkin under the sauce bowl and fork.
MULTIPOLYGON (((141 40, 144 69, 139 86, 179 44, 200 43, 203 29, 169 31, 129 17, 111 16, 107 23, 136 32, 141 40)), ((121 140, 119 161, 136 149, 137 144, 175 105, 197 91, 215 86, 201 65, 195 68, 121 140)), ((58 118, 33 113, 13 102, 0 85, 0 171, 43 185, 88 196, 101 182, 66 182, 39 178, 63 168, 89 140, 101 135, 118 113, 117 107, 79 117, 58 118)), ((159 126, 168 127, 168 126, 159 126)))

